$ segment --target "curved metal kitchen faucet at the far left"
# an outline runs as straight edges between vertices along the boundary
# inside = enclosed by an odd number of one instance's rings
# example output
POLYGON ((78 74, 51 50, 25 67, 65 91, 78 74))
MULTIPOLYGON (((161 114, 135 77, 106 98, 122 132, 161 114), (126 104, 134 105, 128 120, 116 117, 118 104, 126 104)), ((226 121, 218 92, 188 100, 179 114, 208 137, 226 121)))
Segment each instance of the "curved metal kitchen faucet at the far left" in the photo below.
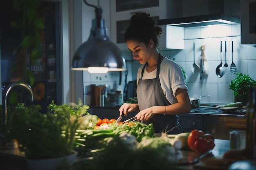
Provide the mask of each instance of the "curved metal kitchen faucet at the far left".
POLYGON ((33 102, 34 101, 34 95, 33 95, 33 91, 32 88, 29 84, 27 84, 26 82, 13 82, 11 84, 9 84, 9 86, 7 86, 6 90, 4 91, 4 95, 3 95, 3 102, 4 104, 2 105, 2 110, 3 110, 3 115, 2 115, 2 123, 3 125, 6 125, 6 119, 7 119, 7 97, 9 95, 9 92, 11 91, 11 89, 14 86, 23 86, 27 89, 27 91, 29 92, 30 95, 30 101, 33 102))

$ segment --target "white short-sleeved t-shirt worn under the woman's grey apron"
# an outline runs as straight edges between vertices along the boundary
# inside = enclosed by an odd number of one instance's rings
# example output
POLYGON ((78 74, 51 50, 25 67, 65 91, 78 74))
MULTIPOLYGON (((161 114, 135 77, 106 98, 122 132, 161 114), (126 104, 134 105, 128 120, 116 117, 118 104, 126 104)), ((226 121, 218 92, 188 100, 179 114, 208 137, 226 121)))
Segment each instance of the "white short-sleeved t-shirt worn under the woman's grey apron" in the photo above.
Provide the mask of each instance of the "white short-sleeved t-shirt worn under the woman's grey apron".
MULTIPOLYGON (((138 84, 139 78, 141 78, 141 71, 144 65, 145 64, 141 65, 138 69, 137 84, 138 84)), ((157 69, 148 73, 145 68, 142 79, 154 79, 156 78, 156 75, 157 75, 157 69)), ((164 57, 164 60, 161 62, 161 65, 160 65, 159 79, 160 79, 160 83, 161 83, 161 87, 163 89, 164 95, 171 104, 177 103, 177 99, 175 95, 177 88, 184 88, 188 90, 188 87, 186 86, 186 82, 184 80, 183 73, 180 66, 174 61, 169 60, 166 57, 164 57)))

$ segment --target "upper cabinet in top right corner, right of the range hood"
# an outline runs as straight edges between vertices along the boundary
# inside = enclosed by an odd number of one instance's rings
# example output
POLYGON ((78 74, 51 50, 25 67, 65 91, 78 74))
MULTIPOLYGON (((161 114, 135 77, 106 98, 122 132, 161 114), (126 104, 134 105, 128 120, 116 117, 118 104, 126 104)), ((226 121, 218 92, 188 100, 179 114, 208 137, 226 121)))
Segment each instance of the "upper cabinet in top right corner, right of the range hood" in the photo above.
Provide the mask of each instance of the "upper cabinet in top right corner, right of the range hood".
POLYGON ((256 0, 241 0, 241 44, 256 46, 256 0))

